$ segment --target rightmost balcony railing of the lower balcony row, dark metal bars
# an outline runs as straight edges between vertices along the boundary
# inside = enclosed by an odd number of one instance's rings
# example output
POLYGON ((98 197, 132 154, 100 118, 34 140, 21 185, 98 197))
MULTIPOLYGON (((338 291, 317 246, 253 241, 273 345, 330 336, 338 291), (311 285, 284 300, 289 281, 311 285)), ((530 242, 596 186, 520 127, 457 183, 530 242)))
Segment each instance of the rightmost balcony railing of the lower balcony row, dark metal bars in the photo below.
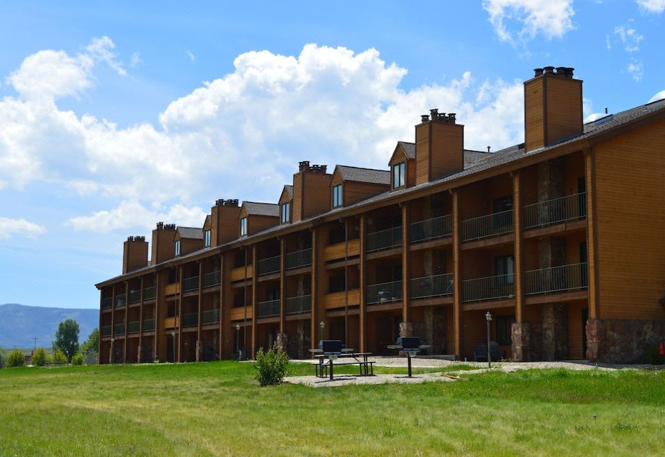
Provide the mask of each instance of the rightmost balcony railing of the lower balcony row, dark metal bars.
POLYGON ((587 263, 524 271, 524 294, 549 294, 585 289, 588 285, 587 263))

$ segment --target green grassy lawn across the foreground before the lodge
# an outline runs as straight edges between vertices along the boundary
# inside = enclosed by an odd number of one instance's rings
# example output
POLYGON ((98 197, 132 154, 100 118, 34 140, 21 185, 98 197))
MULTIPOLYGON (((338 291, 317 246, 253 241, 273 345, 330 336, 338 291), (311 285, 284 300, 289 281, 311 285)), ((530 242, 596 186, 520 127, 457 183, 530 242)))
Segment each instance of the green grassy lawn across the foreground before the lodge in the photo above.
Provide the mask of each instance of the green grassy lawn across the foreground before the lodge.
MULTIPOLYGON (((312 373, 308 365, 292 371, 312 373)), ((319 389, 260 388, 253 375, 251 364, 229 361, 3 369, 0 456, 665 449, 665 373, 529 370, 319 389)))

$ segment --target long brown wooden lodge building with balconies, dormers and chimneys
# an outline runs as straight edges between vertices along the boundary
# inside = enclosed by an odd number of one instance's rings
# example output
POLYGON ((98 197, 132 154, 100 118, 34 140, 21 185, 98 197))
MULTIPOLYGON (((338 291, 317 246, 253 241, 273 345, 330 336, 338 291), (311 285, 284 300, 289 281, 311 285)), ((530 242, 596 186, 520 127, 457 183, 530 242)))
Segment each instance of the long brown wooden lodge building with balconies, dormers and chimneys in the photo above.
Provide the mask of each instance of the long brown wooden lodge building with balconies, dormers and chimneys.
POLYGON ((525 141, 464 149, 432 109, 386 170, 303 161, 275 204, 159 222, 100 290, 100 363, 251 357, 400 336, 472 357, 640 361, 665 338, 665 97, 583 123, 568 67, 524 82, 525 141), (320 323, 323 323, 321 328, 320 323))

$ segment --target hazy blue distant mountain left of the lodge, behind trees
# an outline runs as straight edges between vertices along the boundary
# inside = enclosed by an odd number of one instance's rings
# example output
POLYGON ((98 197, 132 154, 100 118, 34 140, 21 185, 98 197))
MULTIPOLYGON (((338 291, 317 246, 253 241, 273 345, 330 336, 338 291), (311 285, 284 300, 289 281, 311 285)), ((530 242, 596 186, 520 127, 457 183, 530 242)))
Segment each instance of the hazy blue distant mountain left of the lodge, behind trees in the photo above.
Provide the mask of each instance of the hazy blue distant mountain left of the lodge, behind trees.
POLYGON ((15 303, 0 305, 0 346, 8 348, 32 348, 37 337, 37 348, 50 348, 55 339, 57 325, 65 319, 78 322, 78 343, 99 325, 99 310, 69 310, 24 306, 15 303))

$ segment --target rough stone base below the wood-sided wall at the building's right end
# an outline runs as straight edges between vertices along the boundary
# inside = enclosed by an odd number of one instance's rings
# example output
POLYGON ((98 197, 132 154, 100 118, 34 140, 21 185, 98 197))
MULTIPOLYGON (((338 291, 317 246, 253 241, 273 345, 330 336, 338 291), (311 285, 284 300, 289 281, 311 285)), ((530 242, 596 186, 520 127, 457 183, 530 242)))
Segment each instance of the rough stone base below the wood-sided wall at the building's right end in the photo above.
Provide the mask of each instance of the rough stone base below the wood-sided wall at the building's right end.
POLYGON ((612 364, 644 361, 647 348, 665 341, 665 321, 642 319, 589 319, 587 359, 612 364))

